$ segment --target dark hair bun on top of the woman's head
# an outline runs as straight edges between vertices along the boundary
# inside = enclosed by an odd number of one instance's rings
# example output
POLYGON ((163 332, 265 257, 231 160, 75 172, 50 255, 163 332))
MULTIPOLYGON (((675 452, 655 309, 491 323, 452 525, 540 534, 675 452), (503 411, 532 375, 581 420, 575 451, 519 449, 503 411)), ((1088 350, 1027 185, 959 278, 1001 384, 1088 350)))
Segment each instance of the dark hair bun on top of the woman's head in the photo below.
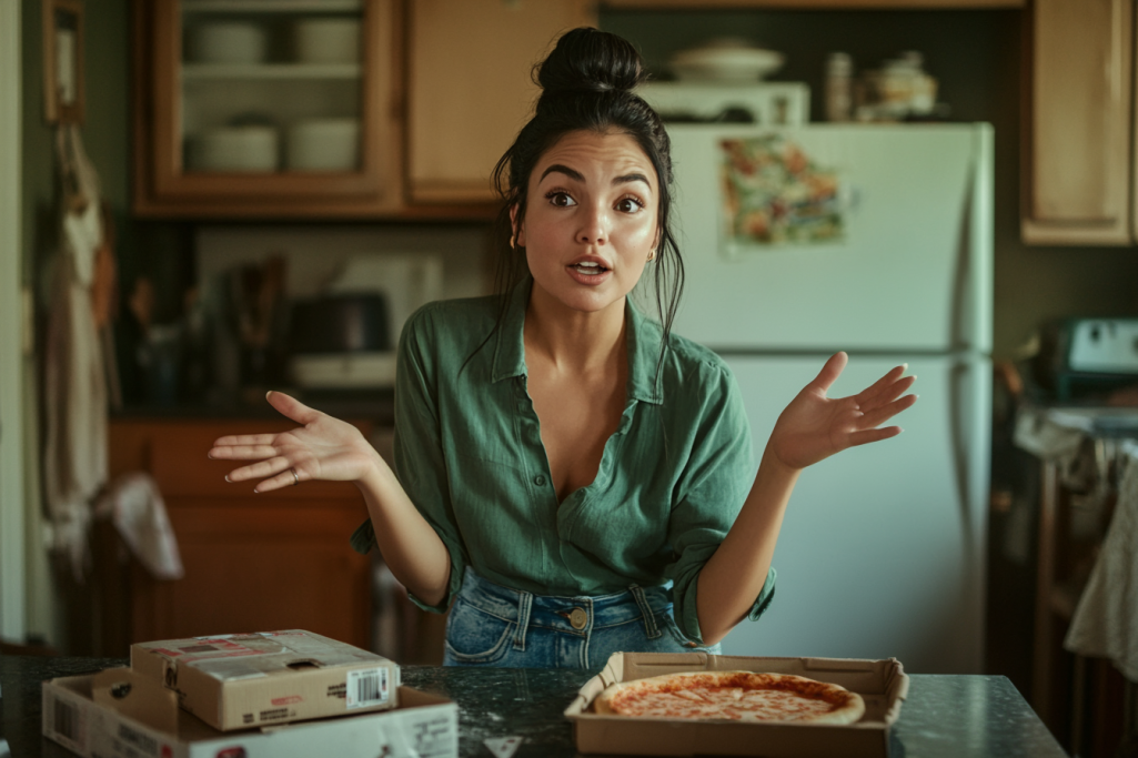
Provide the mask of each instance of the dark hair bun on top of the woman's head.
POLYGON ((545 94, 628 91, 644 79, 632 43, 588 26, 566 32, 537 72, 545 94))

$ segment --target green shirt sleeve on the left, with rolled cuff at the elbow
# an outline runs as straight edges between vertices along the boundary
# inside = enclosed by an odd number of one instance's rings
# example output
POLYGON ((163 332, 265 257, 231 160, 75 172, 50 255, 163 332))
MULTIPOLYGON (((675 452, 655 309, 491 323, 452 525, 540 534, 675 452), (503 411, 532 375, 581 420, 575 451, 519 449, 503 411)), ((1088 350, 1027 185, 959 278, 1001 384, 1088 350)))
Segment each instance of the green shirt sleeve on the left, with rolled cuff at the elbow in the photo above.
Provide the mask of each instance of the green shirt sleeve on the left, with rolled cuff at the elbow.
MULTIPOLYGON (((454 518, 440 442, 438 376, 424 333, 429 329, 423 324, 430 316, 429 308, 409 319, 399 337, 395 371, 395 475, 451 555, 450 585, 442 602, 428 605, 412 593, 409 596, 419 608, 443 613, 462 586, 470 559, 454 518)), ((352 535, 352 546, 364 553, 376 546, 370 519, 352 535)))

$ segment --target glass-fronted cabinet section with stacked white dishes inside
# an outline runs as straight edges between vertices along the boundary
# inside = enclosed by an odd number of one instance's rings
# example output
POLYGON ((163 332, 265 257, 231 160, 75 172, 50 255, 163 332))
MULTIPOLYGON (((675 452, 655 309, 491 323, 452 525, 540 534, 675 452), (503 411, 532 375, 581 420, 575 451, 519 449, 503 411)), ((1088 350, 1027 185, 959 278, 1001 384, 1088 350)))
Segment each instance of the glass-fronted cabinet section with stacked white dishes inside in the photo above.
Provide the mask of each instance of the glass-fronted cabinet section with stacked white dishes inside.
POLYGON ((395 212, 403 200, 399 8, 398 0, 135 0, 135 213, 395 212), (357 23, 358 55, 304 53, 312 48, 297 40, 312 20, 357 23), (213 41, 203 41, 207 32, 213 41), (257 47, 263 55, 249 52, 257 47), (234 58, 246 61, 226 61, 234 58), (330 120, 357 125, 358 137, 345 139, 347 150, 356 148, 354 159, 345 151, 338 163, 294 151, 298 130, 316 122, 327 130, 330 120), (234 126, 245 127, 245 137, 222 140, 234 126), (262 134, 253 142, 256 130, 262 134), (262 139, 265 130, 275 134, 275 148, 262 139), (273 150, 275 163, 267 165, 273 150))

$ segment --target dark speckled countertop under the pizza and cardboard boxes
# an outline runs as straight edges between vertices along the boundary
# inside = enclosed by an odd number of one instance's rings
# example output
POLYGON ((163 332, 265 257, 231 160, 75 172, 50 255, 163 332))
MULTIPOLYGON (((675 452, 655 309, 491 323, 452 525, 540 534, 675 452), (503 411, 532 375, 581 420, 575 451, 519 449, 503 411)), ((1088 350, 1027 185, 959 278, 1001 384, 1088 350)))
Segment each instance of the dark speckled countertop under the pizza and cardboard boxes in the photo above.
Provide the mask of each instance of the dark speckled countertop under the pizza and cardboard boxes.
MULTIPOLYGON (((40 682, 123 666, 96 658, 0 657, 0 702, 14 758, 71 756, 40 736, 40 682)), ((487 738, 525 739, 520 758, 575 756, 561 715, 596 672, 469 669, 407 666, 403 682, 459 703, 460 751, 490 753, 487 738)), ((893 726, 891 758, 1059 758, 1066 756, 1019 691, 1003 676, 912 675, 909 697, 893 726)), ((2 755, 2 751, 0 751, 2 755)))

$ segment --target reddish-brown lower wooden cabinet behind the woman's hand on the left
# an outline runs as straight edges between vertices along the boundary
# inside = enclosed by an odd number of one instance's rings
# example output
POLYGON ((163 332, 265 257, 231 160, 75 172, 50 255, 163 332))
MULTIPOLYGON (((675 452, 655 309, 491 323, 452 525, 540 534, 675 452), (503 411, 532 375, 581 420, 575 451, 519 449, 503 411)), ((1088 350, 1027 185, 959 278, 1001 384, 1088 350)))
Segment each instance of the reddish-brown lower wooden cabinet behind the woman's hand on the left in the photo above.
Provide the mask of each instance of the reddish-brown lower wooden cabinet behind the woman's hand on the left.
MULTIPOLYGON (((265 420, 115 420, 112 477, 148 471, 178 538, 185 577, 130 569, 131 642, 302 628, 368 649, 371 561, 348 544, 366 518, 355 486, 310 481, 265 494, 211 461, 217 437, 295 425, 265 420)), ((366 425, 357 425, 366 434, 366 425)))

